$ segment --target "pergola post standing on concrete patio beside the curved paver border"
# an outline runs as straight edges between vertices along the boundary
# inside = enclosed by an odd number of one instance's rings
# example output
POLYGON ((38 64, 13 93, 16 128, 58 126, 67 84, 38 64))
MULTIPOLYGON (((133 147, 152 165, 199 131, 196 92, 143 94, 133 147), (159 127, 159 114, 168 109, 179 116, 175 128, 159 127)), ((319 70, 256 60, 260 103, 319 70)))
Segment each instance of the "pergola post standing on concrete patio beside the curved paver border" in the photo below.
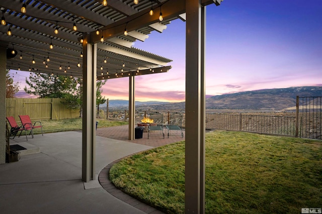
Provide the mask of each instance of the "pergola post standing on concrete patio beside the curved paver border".
POLYGON ((83 42, 82 179, 95 180, 97 45, 83 42))

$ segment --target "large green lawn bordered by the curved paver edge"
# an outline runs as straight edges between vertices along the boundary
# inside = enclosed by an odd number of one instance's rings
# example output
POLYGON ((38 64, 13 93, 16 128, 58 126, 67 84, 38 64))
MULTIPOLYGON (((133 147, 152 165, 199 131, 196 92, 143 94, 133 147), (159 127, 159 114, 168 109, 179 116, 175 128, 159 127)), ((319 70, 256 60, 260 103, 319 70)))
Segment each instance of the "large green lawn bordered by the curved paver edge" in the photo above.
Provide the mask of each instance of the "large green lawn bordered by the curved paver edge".
MULTIPOLYGON (((300 213, 322 206, 322 141, 245 132, 206 135, 206 213, 300 213)), ((185 142, 115 164, 111 181, 168 213, 184 213, 185 142)))

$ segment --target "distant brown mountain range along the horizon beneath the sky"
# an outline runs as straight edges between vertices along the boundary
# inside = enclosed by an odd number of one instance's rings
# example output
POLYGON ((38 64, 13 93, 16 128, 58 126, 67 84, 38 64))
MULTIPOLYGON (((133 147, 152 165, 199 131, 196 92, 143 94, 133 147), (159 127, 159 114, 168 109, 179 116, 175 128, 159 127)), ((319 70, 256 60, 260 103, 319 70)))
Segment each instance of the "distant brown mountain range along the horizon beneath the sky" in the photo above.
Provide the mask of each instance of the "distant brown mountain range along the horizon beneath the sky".
MULTIPOLYGON (((321 97, 322 86, 301 86, 278 89, 261 89, 216 95, 206 99, 206 109, 291 110, 296 106, 296 96, 321 97)), ((127 108, 127 100, 110 100, 109 108, 127 108)), ((135 102, 138 110, 183 110, 185 102, 135 102)))

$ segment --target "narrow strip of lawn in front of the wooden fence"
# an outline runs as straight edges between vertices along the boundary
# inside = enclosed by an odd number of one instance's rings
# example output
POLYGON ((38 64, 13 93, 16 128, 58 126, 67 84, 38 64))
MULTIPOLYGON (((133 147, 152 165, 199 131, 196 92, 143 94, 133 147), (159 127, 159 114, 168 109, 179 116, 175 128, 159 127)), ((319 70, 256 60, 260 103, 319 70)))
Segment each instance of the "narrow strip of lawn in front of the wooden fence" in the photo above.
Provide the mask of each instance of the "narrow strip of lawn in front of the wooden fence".
MULTIPOLYGON (((97 119, 98 128, 120 126, 128 124, 127 121, 116 121, 97 119)), ((32 121, 35 122, 35 121, 32 121)), ((74 131, 82 129, 82 118, 60 119, 60 120, 42 120, 40 121, 43 126, 44 133, 60 132, 60 131, 74 131)), ((38 123, 36 124, 38 125, 38 123)), ((36 128, 33 130, 34 134, 41 134, 41 129, 36 128)))

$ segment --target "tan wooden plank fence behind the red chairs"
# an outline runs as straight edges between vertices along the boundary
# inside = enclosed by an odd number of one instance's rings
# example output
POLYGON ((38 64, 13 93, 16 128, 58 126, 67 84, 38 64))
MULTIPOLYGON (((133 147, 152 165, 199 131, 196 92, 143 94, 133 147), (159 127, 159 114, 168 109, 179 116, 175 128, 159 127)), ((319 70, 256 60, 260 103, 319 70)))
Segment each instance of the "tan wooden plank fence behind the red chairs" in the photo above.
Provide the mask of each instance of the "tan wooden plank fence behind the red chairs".
POLYGON ((7 116, 29 115, 32 120, 79 117, 79 109, 66 108, 60 98, 6 98, 7 116))

